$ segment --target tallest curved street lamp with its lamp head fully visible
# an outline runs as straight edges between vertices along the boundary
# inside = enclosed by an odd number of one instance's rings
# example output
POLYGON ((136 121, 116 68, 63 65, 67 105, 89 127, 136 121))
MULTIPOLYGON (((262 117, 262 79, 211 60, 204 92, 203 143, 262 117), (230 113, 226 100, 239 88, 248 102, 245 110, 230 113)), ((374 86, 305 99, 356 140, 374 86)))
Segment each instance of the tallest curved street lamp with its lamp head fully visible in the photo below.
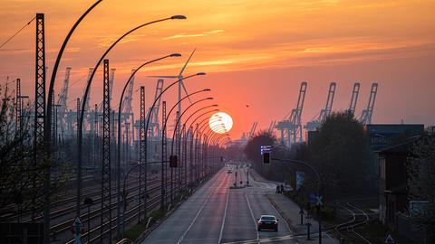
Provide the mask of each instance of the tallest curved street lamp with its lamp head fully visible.
POLYGON ((91 84, 92 84, 92 79, 93 76, 95 75, 95 72, 97 71, 98 67, 100 66, 100 64, 102 63, 102 60, 106 57, 106 55, 111 52, 111 49, 118 43, 120 42, 124 37, 126 37, 127 35, 129 35, 130 33, 133 33, 134 31, 147 26, 151 23, 159 23, 159 22, 163 22, 163 21, 167 21, 167 20, 174 20, 174 19, 186 19, 186 16, 184 15, 174 15, 171 16, 169 18, 164 18, 164 19, 160 19, 160 20, 156 20, 156 21, 152 21, 149 23, 143 23, 140 24, 139 26, 131 29, 129 32, 124 33, 123 35, 121 35, 120 38, 118 38, 118 40, 116 40, 115 42, 113 42, 111 44, 111 46, 102 54, 102 57, 100 58, 100 60, 95 64, 94 69, 92 70, 92 73, 89 77, 88 83, 86 85, 86 89, 84 90, 84 94, 83 94, 83 99, 82 99, 82 109, 80 111, 80 119, 79 119, 79 133, 78 133, 78 164, 77 164, 77 204, 76 204, 76 215, 80 216, 80 204, 81 204, 81 198, 82 198, 82 129, 83 129, 83 116, 84 116, 84 109, 86 106, 86 100, 88 99, 88 93, 89 93, 89 89, 91 88, 91 84))

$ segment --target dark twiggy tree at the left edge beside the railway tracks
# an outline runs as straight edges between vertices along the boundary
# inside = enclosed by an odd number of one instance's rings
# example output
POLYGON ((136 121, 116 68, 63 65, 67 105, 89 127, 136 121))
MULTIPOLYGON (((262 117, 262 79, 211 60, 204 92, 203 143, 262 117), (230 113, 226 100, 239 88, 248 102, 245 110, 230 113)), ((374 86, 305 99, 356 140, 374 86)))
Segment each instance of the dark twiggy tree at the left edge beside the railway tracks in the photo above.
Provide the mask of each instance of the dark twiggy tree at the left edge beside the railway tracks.
MULTIPOLYGON (((2 88, 0 87, 0 91, 2 88)), ((0 107, 0 211, 10 212, 14 205, 22 209, 32 210, 34 217, 43 208, 43 199, 47 194, 56 197, 65 182, 63 166, 53 167, 48 156, 34 161, 34 145, 30 129, 30 105, 24 108, 21 123, 17 123, 14 114, 15 102, 7 88, 3 94, 0 107), (20 129, 21 127, 21 129, 20 129), (51 169, 53 181, 48 191, 44 191, 43 182, 47 169, 51 169)), ((14 209, 14 208, 13 208, 14 209)), ((5 219, 0 221, 10 221, 5 219)))

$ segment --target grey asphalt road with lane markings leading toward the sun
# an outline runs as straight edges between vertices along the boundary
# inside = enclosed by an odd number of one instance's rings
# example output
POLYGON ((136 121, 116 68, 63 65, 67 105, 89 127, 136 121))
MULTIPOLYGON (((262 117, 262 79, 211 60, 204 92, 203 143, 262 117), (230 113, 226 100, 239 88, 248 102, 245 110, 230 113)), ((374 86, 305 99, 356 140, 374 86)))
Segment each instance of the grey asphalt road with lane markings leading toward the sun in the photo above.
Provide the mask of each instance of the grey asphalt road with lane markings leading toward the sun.
POLYGON ((275 184, 247 183, 247 169, 227 167, 195 192, 142 243, 297 243, 283 218, 265 193, 275 192, 275 184), (272 214, 278 219, 278 231, 256 231, 256 219, 272 214))

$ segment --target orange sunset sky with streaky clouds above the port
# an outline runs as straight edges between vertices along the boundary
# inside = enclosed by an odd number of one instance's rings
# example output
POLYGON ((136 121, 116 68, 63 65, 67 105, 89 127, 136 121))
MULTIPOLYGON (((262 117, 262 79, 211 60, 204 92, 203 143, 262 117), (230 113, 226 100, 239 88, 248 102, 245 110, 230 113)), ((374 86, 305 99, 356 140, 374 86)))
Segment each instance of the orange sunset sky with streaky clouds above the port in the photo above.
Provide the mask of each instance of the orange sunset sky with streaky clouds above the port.
MULTIPOLYGON (((92 3, 2 0, 0 42, 35 13, 44 13, 51 75, 63 38, 92 3)), ((435 123, 434 10, 435 1, 430 0, 105 0, 73 34, 58 71, 56 94, 65 67, 72 67, 69 106, 74 108, 88 68, 111 42, 141 23, 184 14, 187 20, 145 27, 111 51, 116 103, 132 68, 172 52, 182 53, 183 57, 152 64, 136 76, 135 89, 141 84, 146 87, 148 107, 156 80, 147 76, 177 75, 189 52, 197 48, 185 74, 208 75, 186 81, 186 86, 189 91, 213 89, 211 96, 219 108, 233 117, 233 138, 249 131, 254 121, 258 128, 267 128, 271 120, 285 117, 295 107, 303 80, 308 82, 304 123, 324 107, 329 82, 337 82, 333 110, 343 110, 357 80, 361 82, 357 115, 366 106, 372 81, 377 81, 373 123, 403 120, 429 126, 435 123)), ((101 70, 92 84, 92 104, 102 98, 101 70)), ((34 97, 34 23, 0 50, 2 84, 6 76, 21 78, 23 93, 34 97)), ((173 89, 164 98, 169 105, 176 94, 173 89)), ((133 96, 137 110, 139 92, 133 96)))

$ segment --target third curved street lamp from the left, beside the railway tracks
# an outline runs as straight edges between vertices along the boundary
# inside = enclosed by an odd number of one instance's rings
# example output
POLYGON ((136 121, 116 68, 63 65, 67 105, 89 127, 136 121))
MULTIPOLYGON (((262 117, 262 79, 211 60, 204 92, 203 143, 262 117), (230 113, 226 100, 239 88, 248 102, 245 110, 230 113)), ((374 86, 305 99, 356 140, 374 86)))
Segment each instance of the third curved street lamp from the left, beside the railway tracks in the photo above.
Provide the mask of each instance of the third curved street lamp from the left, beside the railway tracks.
MULTIPOLYGON (((129 80, 127 80, 127 82, 125 82, 125 86, 122 89, 121 92, 121 99, 120 99, 120 105, 118 106, 118 155, 117 155, 117 192, 118 192, 118 196, 117 196, 117 226, 121 226, 121 111, 122 111, 122 101, 124 99, 124 93, 125 90, 127 89, 127 86, 130 84, 130 81, 132 80, 132 78, 134 77, 134 75, 136 74, 136 72, 138 72, 140 69, 142 69, 142 67, 144 67, 147 64, 150 64, 152 62, 155 61, 160 61, 160 60, 164 60, 166 58, 169 57, 180 57, 181 54, 179 53, 172 53, 166 56, 163 56, 159 59, 155 59, 152 61, 146 61, 144 63, 142 63, 138 68, 136 68, 133 72, 131 72, 131 76, 129 78, 129 80)), ((117 228, 117 238, 121 239, 121 229, 117 228)))

